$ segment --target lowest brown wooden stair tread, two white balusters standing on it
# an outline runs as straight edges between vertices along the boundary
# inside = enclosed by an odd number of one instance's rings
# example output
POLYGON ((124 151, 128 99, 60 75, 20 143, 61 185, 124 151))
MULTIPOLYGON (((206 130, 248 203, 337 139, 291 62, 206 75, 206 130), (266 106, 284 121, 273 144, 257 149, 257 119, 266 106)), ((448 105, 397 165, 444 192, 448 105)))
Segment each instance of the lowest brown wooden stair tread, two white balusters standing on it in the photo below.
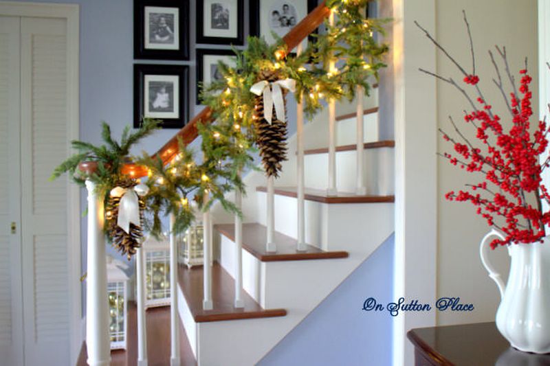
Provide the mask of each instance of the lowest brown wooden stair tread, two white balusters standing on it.
POLYGON ((243 291, 244 308, 235 308, 235 284, 222 266, 214 262, 212 266, 212 303, 213 310, 203 310, 203 268, 202 266, 187 266, 180 264, 177 271, 181 291, 187 301, 188 308, 196 323, 207 321, 225 321, 235 319, 256 319, 284 317, 285 309, 263 309, 248 293, 243 291))

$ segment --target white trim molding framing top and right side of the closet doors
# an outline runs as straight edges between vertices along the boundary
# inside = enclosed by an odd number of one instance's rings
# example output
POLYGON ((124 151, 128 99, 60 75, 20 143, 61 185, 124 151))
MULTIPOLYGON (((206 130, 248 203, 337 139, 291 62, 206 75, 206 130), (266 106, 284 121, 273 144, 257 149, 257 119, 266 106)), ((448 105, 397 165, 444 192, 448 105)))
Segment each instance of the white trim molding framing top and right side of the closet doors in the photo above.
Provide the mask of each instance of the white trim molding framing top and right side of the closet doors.
MULTIPOLYGON (((79 138, 79 41, 80 41, 80 6, 78 4, 32 3, 0 1, 0 14, 7 16, 33 16, 42 18, 61 18, 67 20, 67 120, 72 122, 67 130, 67 151, 71 151, 70 142, 79 138)), ((67 177, 67 180, 69 178, 67 177)), ((80 190, 69 184, 67 201, 67 238, 69 258, 69 297, 72 299, 70 360, 76 364, 82 336, 83 319, 81 317, 82 299, 80 296, 80 190)))

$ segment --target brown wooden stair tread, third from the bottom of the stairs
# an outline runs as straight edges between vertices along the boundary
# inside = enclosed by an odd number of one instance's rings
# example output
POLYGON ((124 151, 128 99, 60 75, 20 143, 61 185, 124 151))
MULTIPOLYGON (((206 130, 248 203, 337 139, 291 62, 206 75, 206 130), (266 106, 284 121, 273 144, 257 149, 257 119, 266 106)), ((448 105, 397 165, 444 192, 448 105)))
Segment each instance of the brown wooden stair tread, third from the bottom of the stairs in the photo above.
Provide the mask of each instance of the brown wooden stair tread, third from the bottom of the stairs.
MULTIPOLYGON (((267 187, 256 187, 257 192, 267 192, 267 187)), ((294 197, 298 196, 298 188, 296 187, 275 187, 275 194, 281 196, 294 197)), ((357 195, 355 193, 338 192, 336 196, 328 196, 325 190, 316 190, 314 188, 306 188, 304 198, 307 201, 316 201, 320 203, 391 203, 395 201, 395 196, 373 196, 373 195, 357 195)))

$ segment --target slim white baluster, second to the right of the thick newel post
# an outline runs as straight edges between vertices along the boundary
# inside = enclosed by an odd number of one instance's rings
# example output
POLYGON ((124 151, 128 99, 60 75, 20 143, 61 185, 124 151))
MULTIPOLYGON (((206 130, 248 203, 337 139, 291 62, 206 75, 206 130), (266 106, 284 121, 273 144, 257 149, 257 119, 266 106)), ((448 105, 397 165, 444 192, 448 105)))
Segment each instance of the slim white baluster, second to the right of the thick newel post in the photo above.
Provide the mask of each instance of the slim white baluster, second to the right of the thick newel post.
POLYGON ((170 365, 179 366, 179 317, 177 314, 177 244, 174 214, 170 214, 170 365))

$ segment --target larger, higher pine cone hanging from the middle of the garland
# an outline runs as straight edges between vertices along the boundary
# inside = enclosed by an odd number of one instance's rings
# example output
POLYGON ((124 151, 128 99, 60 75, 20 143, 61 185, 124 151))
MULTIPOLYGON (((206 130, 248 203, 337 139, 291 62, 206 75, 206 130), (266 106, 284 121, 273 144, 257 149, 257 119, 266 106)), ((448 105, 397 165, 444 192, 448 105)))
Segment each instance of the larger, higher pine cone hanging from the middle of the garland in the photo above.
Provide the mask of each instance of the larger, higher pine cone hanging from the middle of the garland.
MULTIPOLYGON (((259 73, 259 80, 274 82, 279 80, 278 73, 275 71, 263 70, 259 73)), ((287 91, 283 89, 283 98, 287 91)), ((260 149, 263 168, 267 176, 278 177, 281 172, 281 162, 287 160, 287 123, 281 121, 278 115, 273 111, 272 124, 269 124, 263 117, 263 95, 256 97, 256 106, 254 107, 256 115, 256 144, 260 149)), ((285 101, 285 115, 287 114, 287 105, 285 101)))

